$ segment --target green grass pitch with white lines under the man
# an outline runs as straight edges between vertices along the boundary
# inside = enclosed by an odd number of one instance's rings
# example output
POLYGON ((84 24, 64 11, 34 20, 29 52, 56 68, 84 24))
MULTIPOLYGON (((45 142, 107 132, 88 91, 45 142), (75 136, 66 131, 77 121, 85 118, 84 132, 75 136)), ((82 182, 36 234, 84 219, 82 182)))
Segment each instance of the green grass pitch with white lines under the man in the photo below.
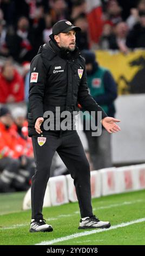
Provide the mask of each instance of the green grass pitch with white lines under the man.
POLYGON ((41 242, 53 245, 145 245, 143 190, 93 199, 94 214, 101 220, 110 221, 113 229, 89 229, 88 233, 77 229, 80 220, 77 203, 44 208, 44 218, 54 231, 29 233, 30 210, 21 210, 23 197, 24 193, 0 196, 0 245, 35 245, 41 242))

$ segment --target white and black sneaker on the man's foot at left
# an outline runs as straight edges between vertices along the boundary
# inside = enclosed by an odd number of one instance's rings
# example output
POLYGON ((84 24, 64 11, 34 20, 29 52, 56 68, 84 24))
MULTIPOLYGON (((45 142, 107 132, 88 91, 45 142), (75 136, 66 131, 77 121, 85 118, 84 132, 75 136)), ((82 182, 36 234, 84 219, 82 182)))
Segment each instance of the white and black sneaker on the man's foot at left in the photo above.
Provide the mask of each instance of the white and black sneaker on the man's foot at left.
POLYGON ((45 220, 34 220, 30 223, 30 232, 51 232, 52 226, 45 223, 45 220))

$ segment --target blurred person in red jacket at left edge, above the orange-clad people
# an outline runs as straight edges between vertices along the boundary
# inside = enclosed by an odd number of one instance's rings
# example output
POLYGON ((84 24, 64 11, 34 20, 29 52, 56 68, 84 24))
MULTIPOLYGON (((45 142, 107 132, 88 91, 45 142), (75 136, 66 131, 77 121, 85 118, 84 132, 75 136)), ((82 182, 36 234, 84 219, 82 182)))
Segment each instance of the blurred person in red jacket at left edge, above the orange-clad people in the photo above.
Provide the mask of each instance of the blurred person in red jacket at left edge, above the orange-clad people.
POLYGON ((0 103, 14 103, 24 100, 23 77, 11 60, 6 60, 0 74, 0 103))

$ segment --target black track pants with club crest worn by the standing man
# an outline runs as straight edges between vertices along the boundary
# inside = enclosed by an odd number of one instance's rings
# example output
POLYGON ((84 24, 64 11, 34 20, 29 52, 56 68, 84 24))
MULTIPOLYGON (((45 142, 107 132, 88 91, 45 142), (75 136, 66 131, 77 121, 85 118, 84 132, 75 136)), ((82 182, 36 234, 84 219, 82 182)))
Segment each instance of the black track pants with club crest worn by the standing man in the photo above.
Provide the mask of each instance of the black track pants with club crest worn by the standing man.
POLYGON ((42 147, 37 138, 32 136, 36 161, 36 173, 32 177, 31 207, 32 218, 43 218, 42 207, 47 182, 50 176, 52 157, 55 151, 60 155, 71 177, 74 179, 81 217, 93 215, 90 190, 90 167, 76 131, 49 131, 43 135, 46 141, 42 147))

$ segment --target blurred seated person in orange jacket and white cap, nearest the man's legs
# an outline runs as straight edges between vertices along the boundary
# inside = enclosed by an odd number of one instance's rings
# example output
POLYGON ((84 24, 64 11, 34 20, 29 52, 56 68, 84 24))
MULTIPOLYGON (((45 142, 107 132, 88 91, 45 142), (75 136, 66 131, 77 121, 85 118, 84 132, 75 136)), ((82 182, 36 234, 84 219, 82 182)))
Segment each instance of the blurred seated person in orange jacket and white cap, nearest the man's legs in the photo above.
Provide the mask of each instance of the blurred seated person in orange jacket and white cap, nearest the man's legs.
POLYGON ((26 120, 26 111, 22 107, 16 107, 12 111, 14 124, 10 132, 18 142, 20 167, 12 186, 17 191, 26 191, 30 187, 30 179, 35 173, 35 161, 32 149, 31 139, 28 137, 28 121, 26 120))

